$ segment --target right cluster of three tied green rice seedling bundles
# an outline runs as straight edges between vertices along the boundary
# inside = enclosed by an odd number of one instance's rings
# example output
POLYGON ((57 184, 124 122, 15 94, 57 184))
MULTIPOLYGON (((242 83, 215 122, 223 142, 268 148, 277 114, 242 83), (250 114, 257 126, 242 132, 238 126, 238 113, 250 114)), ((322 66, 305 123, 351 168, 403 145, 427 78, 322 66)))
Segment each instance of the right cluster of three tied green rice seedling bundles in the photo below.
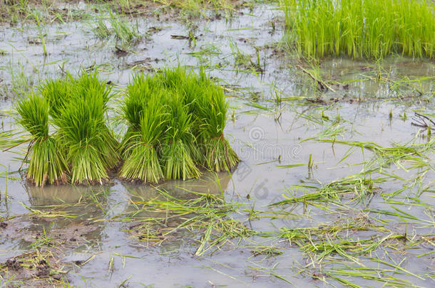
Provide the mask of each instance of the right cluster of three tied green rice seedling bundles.
POLYGON ((121 107, 128 130, 120 176, 157 183, 197 178, 198 166, 232 169, 239 161, 223 136, 227 103, 222 88, 183 68, 135 75, 121 107))

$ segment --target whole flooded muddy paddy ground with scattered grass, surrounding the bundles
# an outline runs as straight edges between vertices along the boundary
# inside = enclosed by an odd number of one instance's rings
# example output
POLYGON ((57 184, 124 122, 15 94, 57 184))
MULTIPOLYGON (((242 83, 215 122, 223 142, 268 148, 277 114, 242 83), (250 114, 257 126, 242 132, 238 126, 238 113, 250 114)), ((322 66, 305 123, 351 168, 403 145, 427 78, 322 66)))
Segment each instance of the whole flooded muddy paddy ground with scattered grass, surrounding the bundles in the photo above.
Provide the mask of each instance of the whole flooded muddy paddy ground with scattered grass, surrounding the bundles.
POLYGON ((0 28, 2 128, 17 129, 10 114, 16 93, 66 70, 98 69, 123 90, 132 73, 203 65, 225 86, 225 137, 242 161, 230 172, 155 187, 113 179, 103 187, 36 188, 19 171, 23 154, 1 151, 0 286, 434 287, 435 156, 422 127, 435 119, 433 61, 396 55, 382 63, 332 58, 313 65, 283 51, 282 11, 260 4, 231 18, 135 17, 131 25, 143 38, 120 50, 116 38, 93 32, 98 17, 108 16, 103 11, 89 9, 91 20, 0 28), (429 148, 409 155, 398 149, 391 157, 404 158, 388 161, 371 144, 429 148), (343 178, 372 184, 338 198, 288 201, 343 178), (223 198, 213 208, 219 211, 236 204, 224 219, 250 232, 200 253, 227 233, 212 230, 206 241, 216 218, 183 229, 201 212, 150 208, 168 195, 191 201, 198 193, 223 198), (329 227, 346 229, 322 234, 329 227), (300 228, 309 236, 299 242, 283 234, 300 228), (329 252, 324 246, 345 240, 359 244, 329 252), (364 241, 379 246, 357 254, 364 241))

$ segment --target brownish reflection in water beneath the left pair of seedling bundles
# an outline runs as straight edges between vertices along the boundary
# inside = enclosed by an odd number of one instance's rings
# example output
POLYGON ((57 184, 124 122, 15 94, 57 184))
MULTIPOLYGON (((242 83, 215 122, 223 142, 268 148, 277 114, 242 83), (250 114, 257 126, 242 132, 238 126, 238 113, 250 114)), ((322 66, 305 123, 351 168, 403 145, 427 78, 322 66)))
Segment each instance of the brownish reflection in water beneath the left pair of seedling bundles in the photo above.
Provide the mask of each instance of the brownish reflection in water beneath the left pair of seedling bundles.
POLYGON ((78 250, 99 245, 104 225, 95 221, 106 217, 111 187, 50 185, 41 188, 24 183, 24 189, 33 213, 21 219, 24 235, 19 248, 26 249, 29 243, 39 245, 41 240, 78 250))

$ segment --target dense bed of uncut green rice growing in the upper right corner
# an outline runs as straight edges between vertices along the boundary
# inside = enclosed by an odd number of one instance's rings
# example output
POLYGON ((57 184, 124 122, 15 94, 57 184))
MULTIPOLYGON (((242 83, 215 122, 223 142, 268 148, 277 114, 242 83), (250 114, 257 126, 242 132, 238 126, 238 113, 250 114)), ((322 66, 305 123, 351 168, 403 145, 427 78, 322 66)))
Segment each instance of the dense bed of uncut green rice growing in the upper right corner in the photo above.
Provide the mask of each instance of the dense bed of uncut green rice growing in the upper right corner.
POLYGON ((435 4, 425 0, 285 0, 287 41, 300 56, 435 57, 435 4))

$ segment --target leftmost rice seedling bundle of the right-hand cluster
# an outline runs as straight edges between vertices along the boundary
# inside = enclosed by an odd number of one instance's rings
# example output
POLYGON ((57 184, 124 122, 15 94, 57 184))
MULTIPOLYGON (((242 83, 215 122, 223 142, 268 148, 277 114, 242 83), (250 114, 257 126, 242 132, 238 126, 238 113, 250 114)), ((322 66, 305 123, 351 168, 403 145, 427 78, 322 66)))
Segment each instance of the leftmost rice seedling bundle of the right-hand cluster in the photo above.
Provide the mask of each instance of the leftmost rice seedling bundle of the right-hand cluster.
POLYGON ((165 131, 166 117, 161 101, 165 95, 153 80, 136 75, 123 102, 123 117, 128 130, 121 143, 125 159, 120 176, 157 183, 163 178, 158 149, 165 131))

